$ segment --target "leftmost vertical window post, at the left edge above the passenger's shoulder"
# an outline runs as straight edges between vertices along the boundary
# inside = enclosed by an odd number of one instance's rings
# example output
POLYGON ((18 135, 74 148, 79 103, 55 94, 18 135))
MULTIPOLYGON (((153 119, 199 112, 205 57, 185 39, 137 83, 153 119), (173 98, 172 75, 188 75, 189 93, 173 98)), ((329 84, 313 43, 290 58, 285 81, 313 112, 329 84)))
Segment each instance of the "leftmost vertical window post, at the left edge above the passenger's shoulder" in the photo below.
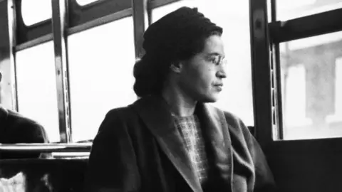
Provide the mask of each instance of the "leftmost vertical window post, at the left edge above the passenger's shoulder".
POLYGON ((11 110, 18 110, 16 92, 16 4, 14 0, 0 1, 0 103, 11 110), (6 30, 7 29, 7 30, 6 30))

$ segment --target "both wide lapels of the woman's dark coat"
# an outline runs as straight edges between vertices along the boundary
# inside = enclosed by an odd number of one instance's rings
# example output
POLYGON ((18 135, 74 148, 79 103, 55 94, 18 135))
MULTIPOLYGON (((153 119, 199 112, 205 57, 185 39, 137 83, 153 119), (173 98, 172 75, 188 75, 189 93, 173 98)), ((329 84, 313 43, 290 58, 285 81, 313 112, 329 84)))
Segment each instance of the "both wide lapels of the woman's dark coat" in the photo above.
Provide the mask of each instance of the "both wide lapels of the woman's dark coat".
MULTIPOLYGON (((172 164, 187 181, 190 188, 193 191, 202 192, 180 133, 175 128, 170 107, 165 100, 156 96, 144 97, 135 102, 133 107, 157 139, 162 151, 172 161, 172 164)), ((228 183, 230 188, 232 181, 232 151, 224 113, 204 104, 197 105, 196 112, 199 115, 201 126, 205 127, 203 133, 206 134, 205 137, 209 141, 207 144, 209 144, 213 152, 210 158, 213 157, 220 177, 227 181, 225 183, 228 183)))

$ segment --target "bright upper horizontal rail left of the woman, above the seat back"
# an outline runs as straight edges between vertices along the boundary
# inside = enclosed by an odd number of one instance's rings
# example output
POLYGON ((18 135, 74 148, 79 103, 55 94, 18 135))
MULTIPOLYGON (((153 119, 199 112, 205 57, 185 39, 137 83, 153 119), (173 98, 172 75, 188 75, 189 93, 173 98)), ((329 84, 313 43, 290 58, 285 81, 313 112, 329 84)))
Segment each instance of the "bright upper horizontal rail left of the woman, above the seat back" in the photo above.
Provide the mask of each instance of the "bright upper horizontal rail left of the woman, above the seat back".
POLYGON ((0 151, 89 152, 92 143, 81 144, 0 144, 0 151))

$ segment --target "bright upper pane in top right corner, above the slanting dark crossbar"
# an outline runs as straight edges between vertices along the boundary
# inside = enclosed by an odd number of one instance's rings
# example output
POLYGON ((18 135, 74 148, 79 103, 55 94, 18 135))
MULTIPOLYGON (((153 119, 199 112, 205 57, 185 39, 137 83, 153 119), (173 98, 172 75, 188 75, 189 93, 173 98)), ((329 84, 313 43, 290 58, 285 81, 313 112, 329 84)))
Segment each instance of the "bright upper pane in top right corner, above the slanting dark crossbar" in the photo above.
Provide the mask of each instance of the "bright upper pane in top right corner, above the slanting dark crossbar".
POLYGON ((291 18, 309 16, 342 7, 342 0, 276 0, 277 20, 286 21, 291 18))

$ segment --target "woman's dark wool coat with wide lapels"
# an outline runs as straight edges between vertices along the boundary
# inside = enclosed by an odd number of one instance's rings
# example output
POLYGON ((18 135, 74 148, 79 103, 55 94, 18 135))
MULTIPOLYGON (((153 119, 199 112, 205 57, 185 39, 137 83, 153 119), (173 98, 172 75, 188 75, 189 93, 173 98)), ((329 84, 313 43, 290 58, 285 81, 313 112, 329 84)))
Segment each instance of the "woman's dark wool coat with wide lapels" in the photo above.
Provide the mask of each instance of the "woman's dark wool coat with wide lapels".
POLYGON ((93 141, 86 191, 273 191, 265 156, 242 121, 202 103, 195 112, 211 167, 206 187, 165 100, 151 96, 108 112, 93 141))

